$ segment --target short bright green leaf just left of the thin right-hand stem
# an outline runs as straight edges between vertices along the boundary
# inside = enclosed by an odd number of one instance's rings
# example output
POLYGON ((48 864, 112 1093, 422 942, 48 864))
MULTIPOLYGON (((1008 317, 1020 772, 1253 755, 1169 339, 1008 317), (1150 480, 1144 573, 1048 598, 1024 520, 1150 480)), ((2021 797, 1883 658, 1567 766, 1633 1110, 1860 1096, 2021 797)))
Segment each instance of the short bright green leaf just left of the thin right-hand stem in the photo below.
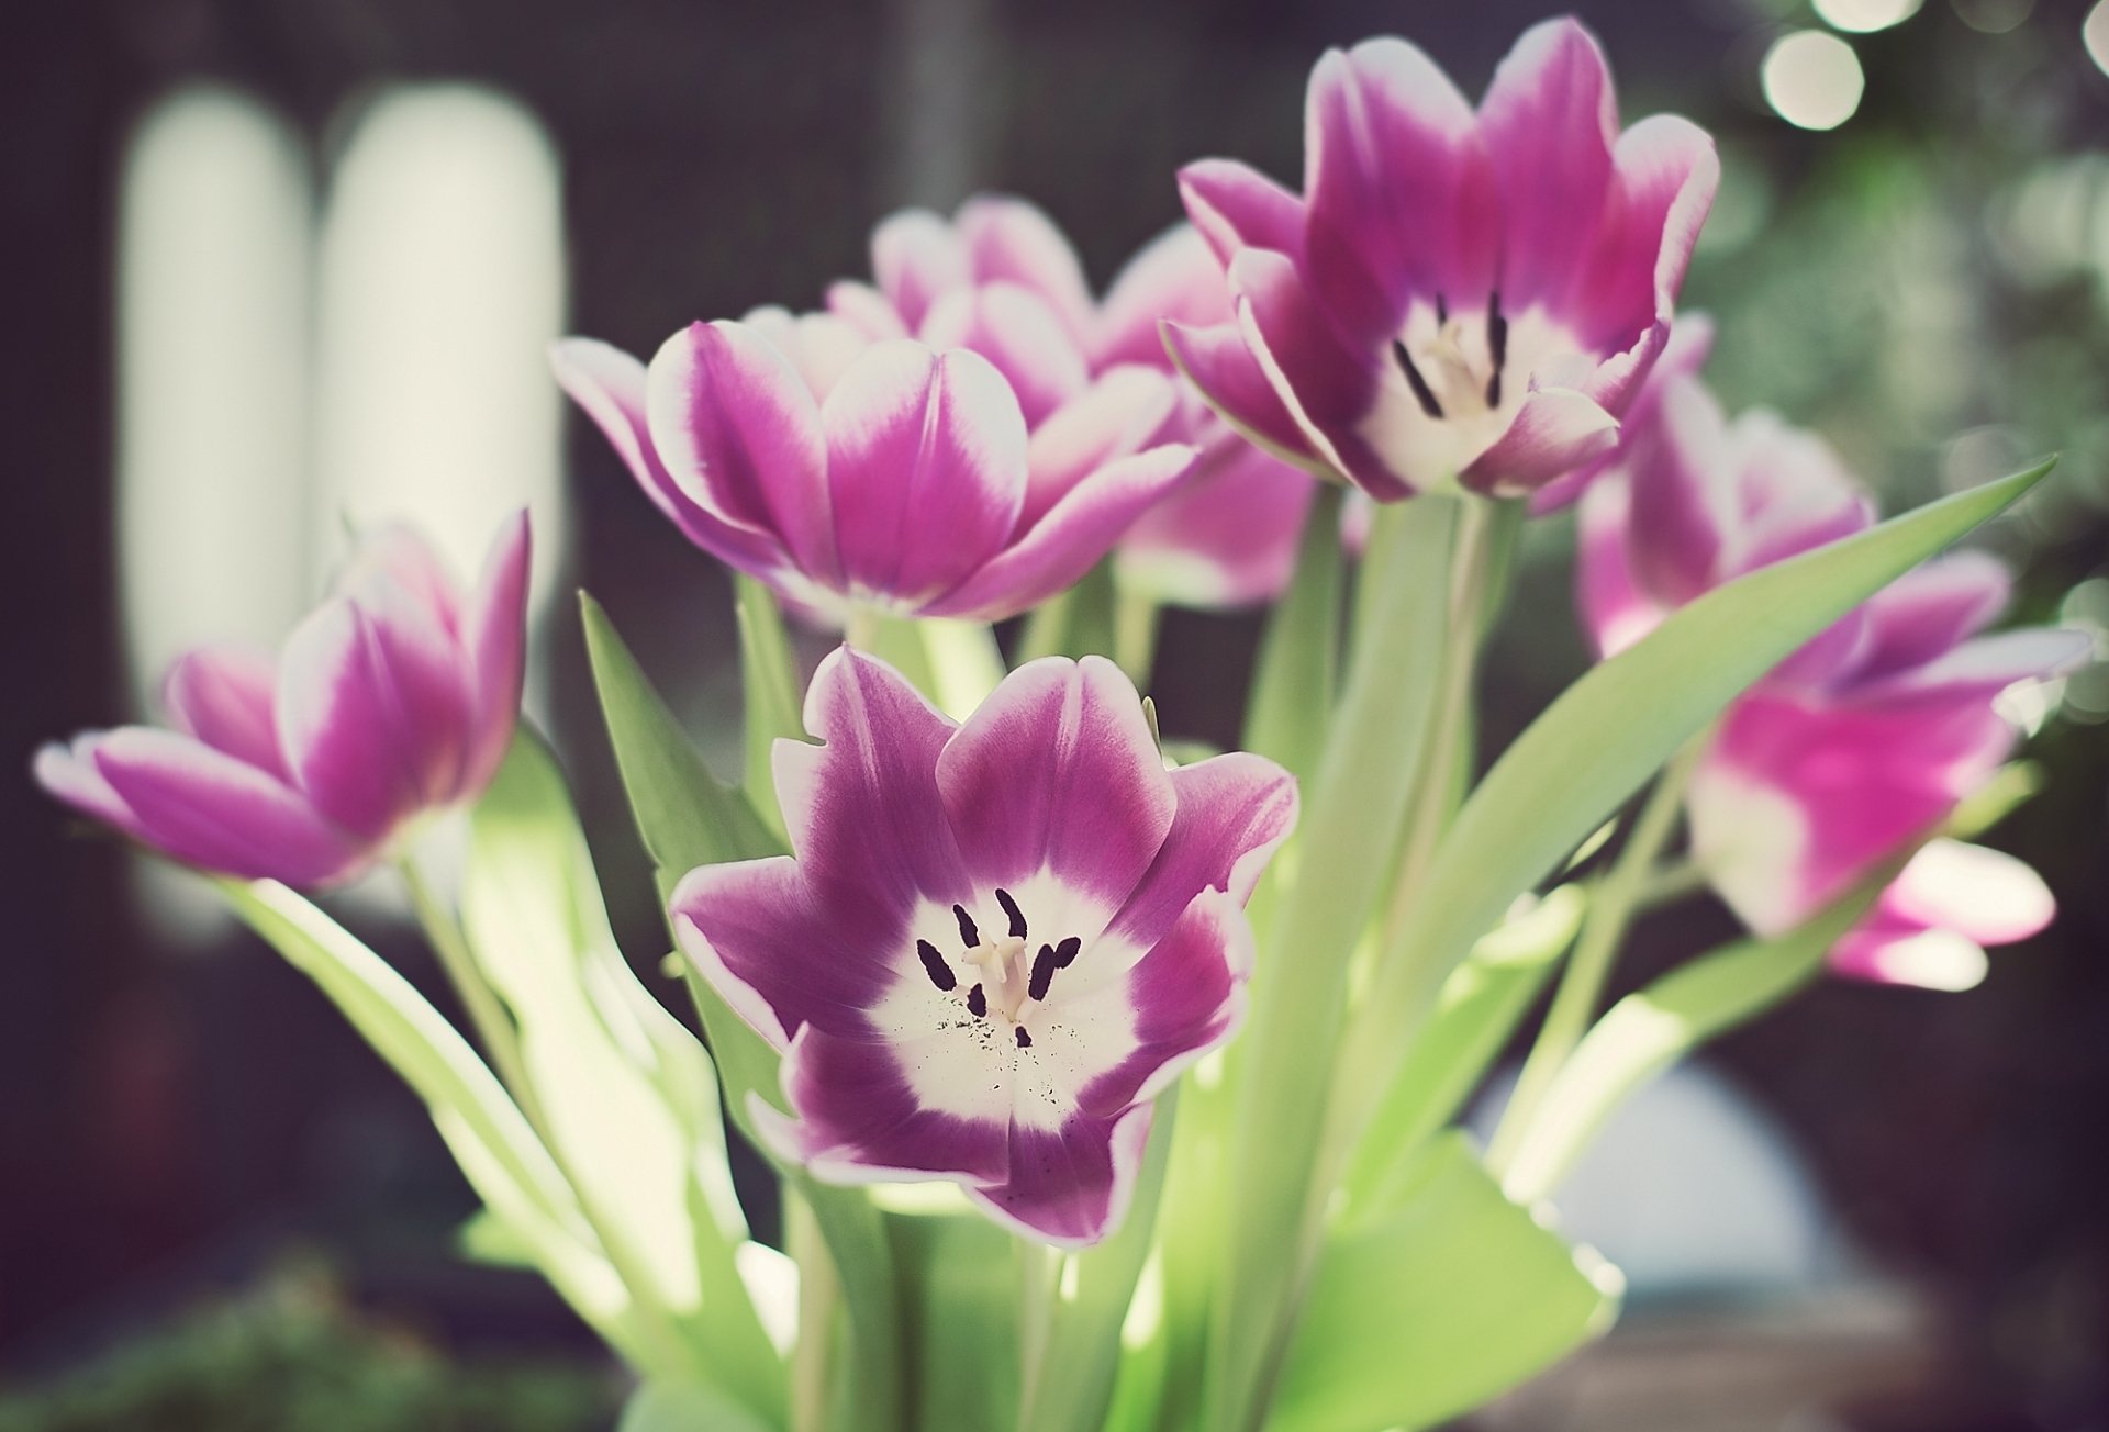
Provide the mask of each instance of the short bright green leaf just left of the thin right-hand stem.
POLYGON ((1377 1107, 1350 1164, 1343 1221, 1365 1223, 1398 1206, 1419 1166, 1421 1145, 1478 1088, 1516 1021, 1582 928, 1588 896, 1561 886, 1508 920, 1443 985, 1434 1019, 1421 1029, 1377 1107))

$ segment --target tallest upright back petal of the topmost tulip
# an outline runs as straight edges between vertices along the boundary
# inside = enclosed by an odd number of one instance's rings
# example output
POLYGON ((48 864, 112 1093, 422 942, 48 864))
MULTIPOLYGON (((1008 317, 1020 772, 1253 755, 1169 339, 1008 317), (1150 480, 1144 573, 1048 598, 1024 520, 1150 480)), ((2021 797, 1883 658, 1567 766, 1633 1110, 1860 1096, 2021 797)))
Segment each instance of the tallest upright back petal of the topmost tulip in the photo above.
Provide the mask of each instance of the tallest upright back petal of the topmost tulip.
POLYGON ((1565 314, 1618 143, 1618 97, 1597 40, 1573 19, 1523 32, 1493 72, 1481 124, 1502 186, 1504 306, 1565 314))

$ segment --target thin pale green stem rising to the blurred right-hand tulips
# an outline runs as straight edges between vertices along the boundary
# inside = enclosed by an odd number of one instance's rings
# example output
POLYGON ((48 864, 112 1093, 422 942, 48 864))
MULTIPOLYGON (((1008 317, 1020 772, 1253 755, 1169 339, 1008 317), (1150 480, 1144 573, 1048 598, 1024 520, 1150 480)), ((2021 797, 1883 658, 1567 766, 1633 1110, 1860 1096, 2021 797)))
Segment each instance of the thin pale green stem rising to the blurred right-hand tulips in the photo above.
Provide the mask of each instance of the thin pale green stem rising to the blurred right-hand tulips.
POLYGON ((1582 938, 1575 941, 1552 1006, 1546 1010, 1546 1023, 1537 1029, 1537 1042, 1531 1046, 1529 1059, 1523 1061, 1523 1073, 1516 1076, 1516 1092, 1510 1095, 1502 1124, 1487 1149, 1487 1166, 1495 1177, 1508 1170, 1523 1141, 1523 1130, 1529 1128, 1531 1118, 1544 1105, 1546 1090, 1552 1088, 1552 1080, 1559 1078, 1561 1067, 1597 1017, 1605 981, 1611 976, 1618 951, 1626 943, 1626 930, 1632 928, 1632 917, 1639 913, 1656 856, 1677 831, 1685 787, 1691 785, 1691 770, 1704 751, 1706 736, 1702 734, 1677 753, 1634 816, 1632 833, 1611 869, 1597 882, 1588 917, 1582 922, 1582 938))

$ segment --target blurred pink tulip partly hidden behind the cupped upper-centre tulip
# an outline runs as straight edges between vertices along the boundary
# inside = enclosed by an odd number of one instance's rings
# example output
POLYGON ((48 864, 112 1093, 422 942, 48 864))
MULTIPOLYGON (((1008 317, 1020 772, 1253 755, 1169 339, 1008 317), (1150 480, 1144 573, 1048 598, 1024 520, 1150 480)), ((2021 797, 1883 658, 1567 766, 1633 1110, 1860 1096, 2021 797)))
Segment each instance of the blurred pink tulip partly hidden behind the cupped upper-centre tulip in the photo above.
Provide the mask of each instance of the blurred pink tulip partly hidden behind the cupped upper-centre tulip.
MULTIPOLYGON (((873 232, 871 268, 875 285, 829 289, 831 314, 871 340, 972 348, 1010 380, 1033 430, 1124 369, 1173 378, 1160 321, 1234 318, 1221 266, 1192 226, 1145 245, 1092 302, 1054 221, 1000 194, 966 200, 951 219, 926 209, 888 217, 873 232)), ((1122 538, 1122 582, 1196 607, 1276 597, 1289 584, 1310 477, 1242 441, 1185 384, 1170 434, 1196 447, 1194 470, 1122 538)))

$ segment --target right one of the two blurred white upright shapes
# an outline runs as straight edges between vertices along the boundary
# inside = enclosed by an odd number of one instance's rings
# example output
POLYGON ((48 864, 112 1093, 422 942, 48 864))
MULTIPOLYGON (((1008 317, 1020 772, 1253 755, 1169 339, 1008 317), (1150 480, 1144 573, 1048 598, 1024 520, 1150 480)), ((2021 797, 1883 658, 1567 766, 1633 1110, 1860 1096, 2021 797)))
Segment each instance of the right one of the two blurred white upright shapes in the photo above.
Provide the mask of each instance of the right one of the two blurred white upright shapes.
POLYGON ((318 280, 316 519, 323 553, 405 521, 475 578, 498 521, 534 510, 536 612, 563 555, 557 154, 512 99, 466 84, 384 93, 329 192, 318 280))

